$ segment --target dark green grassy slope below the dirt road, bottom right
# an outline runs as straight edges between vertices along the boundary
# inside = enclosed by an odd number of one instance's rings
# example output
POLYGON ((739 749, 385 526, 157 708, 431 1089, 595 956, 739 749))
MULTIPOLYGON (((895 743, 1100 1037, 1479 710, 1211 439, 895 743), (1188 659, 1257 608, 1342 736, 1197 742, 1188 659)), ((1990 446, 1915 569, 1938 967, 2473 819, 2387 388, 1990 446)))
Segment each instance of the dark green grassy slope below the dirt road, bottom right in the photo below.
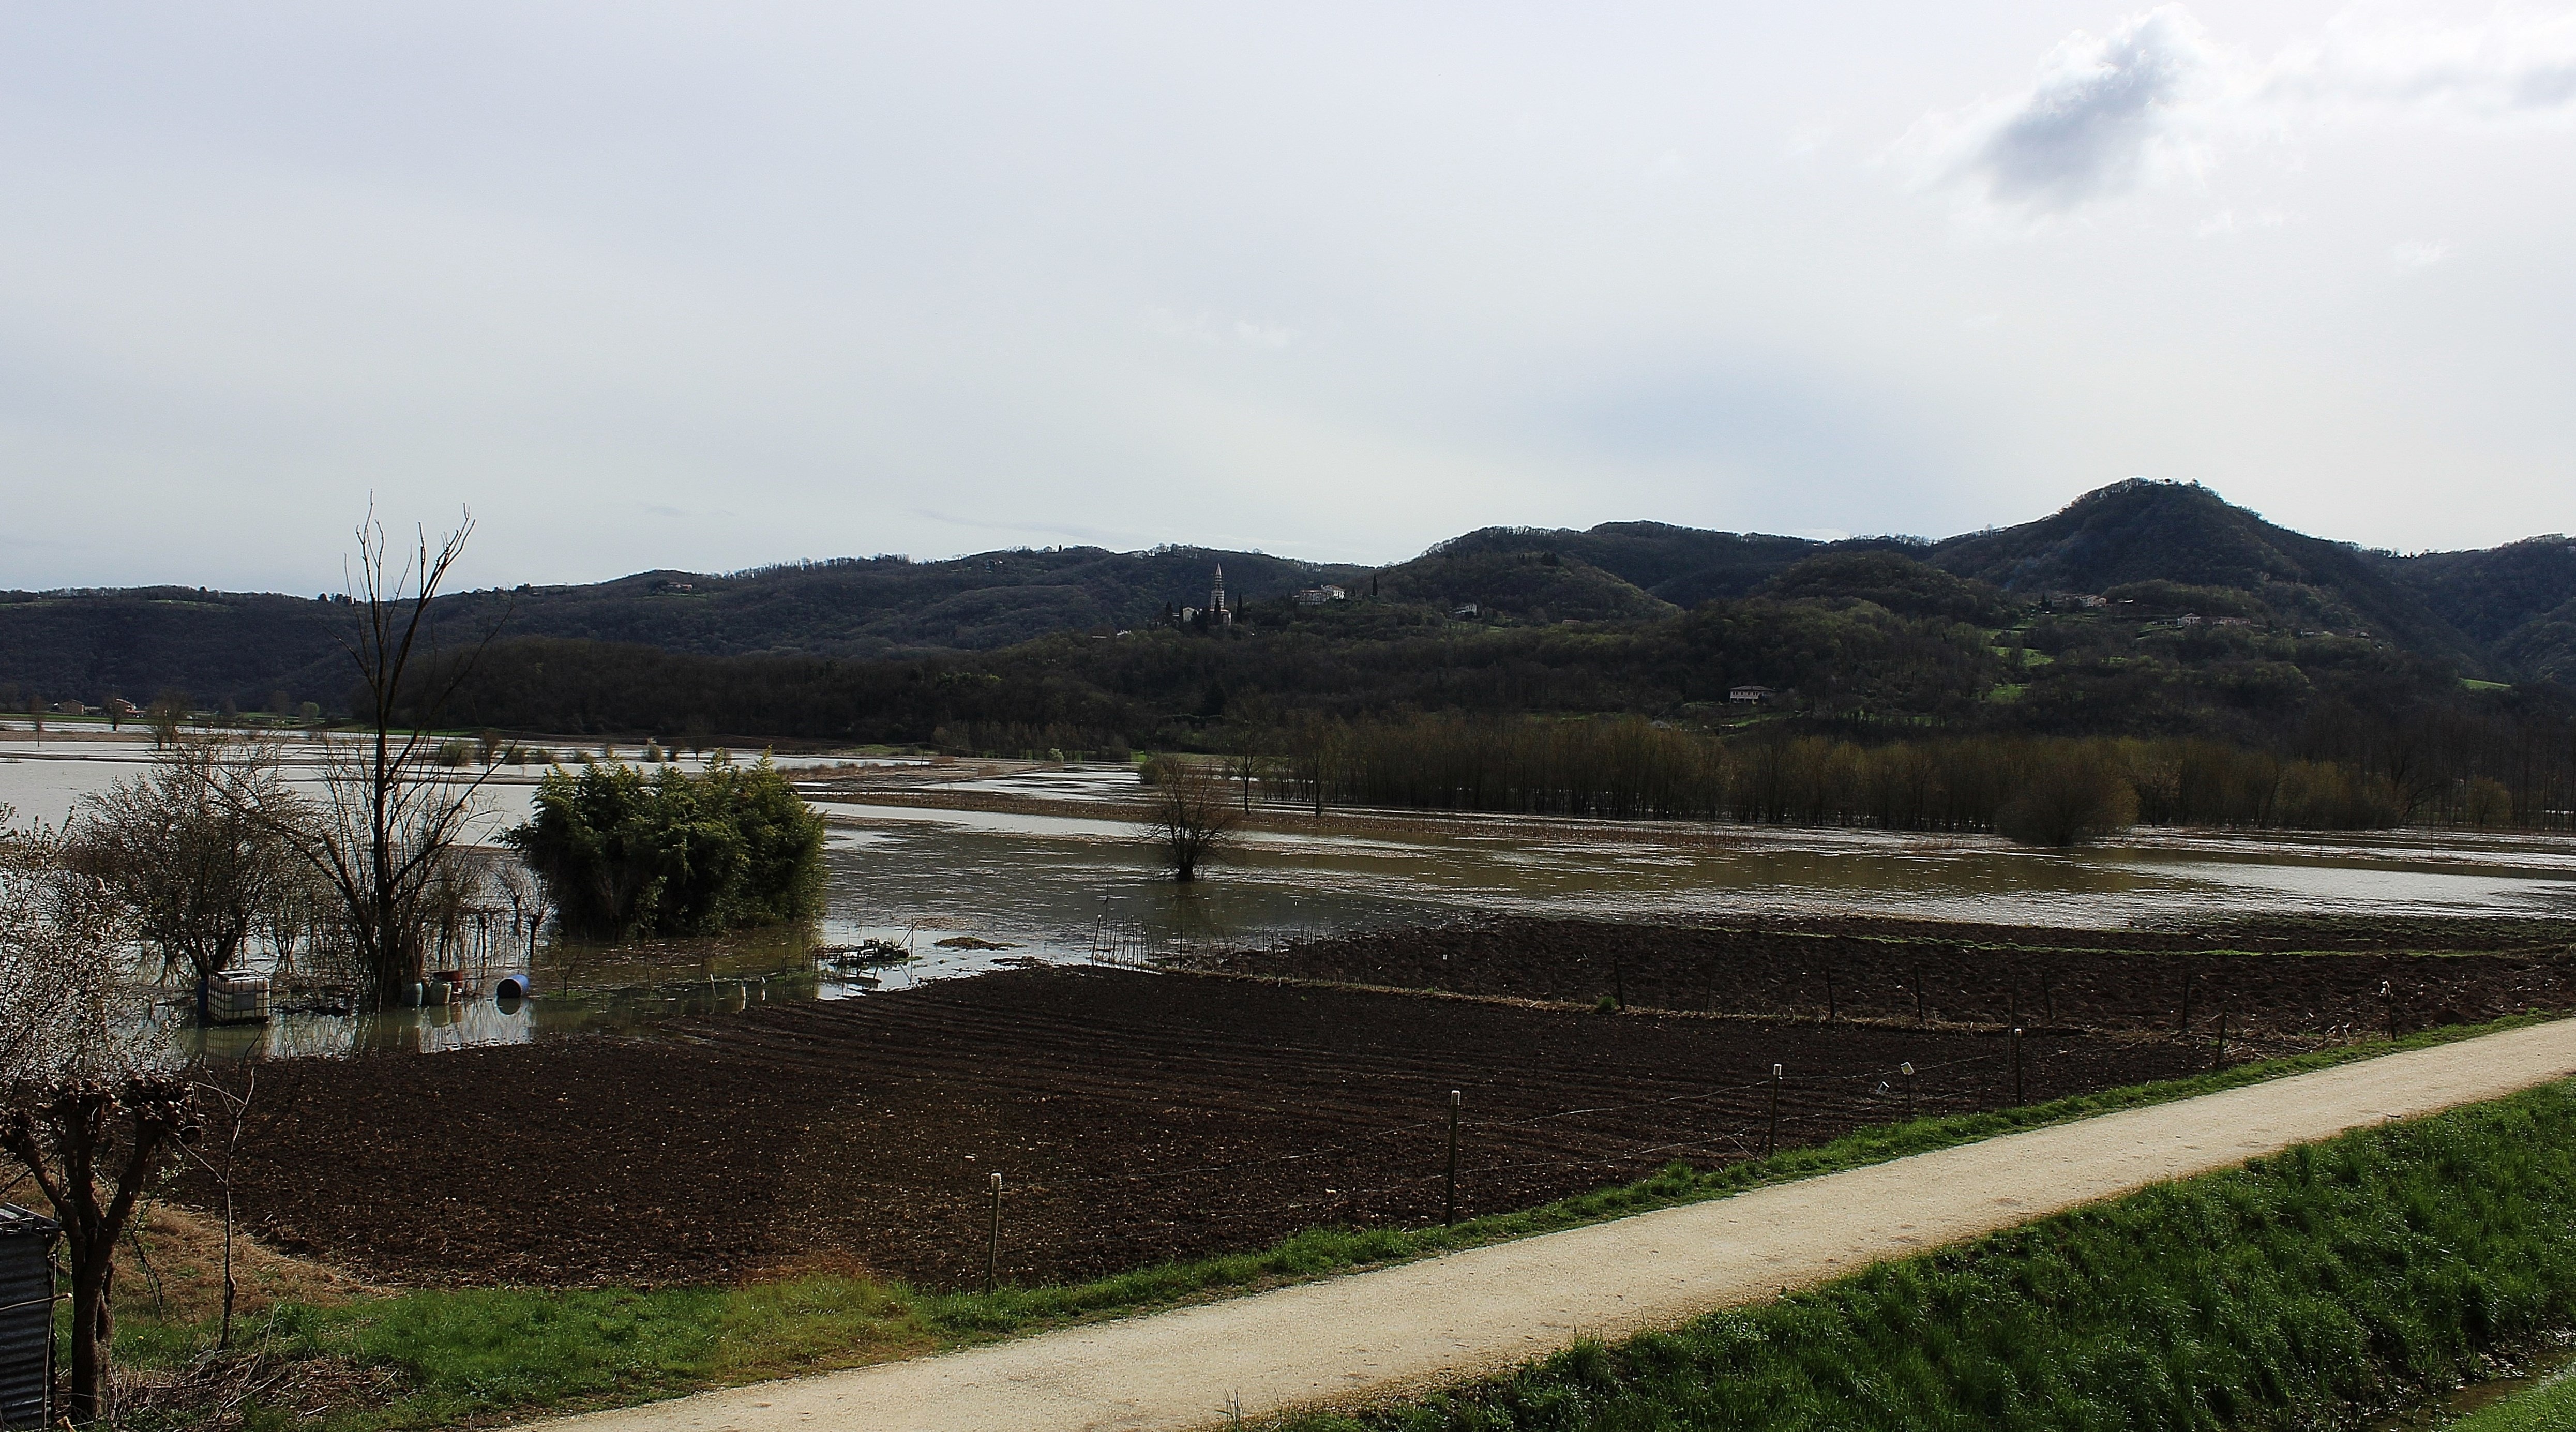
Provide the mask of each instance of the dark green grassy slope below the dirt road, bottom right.
MULTIPOLYGON (((2576 1084, 1283 1432, 2331 1427, 2576 1324, 2576 1084)), ((2563 1393, 2561 1393, 2563 1396, 2563 1393)), ((2550 1422, 2561 1401, 2535 1401, 2550 1422)), ((2517 1417, 2517 1414, 2501 1414, 2517 1417)))

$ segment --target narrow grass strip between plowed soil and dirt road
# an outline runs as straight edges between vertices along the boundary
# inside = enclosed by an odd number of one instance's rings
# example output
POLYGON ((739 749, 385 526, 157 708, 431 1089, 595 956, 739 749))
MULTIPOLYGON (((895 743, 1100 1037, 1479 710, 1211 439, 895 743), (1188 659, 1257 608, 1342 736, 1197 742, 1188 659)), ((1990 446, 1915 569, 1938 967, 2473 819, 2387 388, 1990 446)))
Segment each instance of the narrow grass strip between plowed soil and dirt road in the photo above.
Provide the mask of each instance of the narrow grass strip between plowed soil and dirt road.
MULTIPOLYGON (((1309 1229, 1257 1252, 1157 1265, 1074 1285, 922 1293, 868 1277, 811 1275, 732 1288, 422 1288, 343 1306, 278 1303, 250 1324, 250 1334, 283 1365, 394 1373, 394 1388, 368 1393, 355 1406, 335 1406, 325 1417, 294 1417, 291 1422, 307 1432, 453 1427, 636 1404, 1548 1234, 2532 1022, 2540 1017, 2517 1015, 2017 1110, 1873 1126, 1829 1144, 1785 1149, 1770 1159, 1721 1169, 1674 1164, 1631 1185, 1484 1216, 1455 1229, 1309 1229)), ((206 1324, 155 1321, 149 1306, 118 1311, 116 1352, 129 1368, 185 1368, 211 1342, 206 1324)), ((304 1406, 322 1401, 330 1399, 317 1393, 304 1406)), ((245 1427, 260 1427, 260 1417, 265 1414, 258 1404, 247 1406, 245 1427)))

